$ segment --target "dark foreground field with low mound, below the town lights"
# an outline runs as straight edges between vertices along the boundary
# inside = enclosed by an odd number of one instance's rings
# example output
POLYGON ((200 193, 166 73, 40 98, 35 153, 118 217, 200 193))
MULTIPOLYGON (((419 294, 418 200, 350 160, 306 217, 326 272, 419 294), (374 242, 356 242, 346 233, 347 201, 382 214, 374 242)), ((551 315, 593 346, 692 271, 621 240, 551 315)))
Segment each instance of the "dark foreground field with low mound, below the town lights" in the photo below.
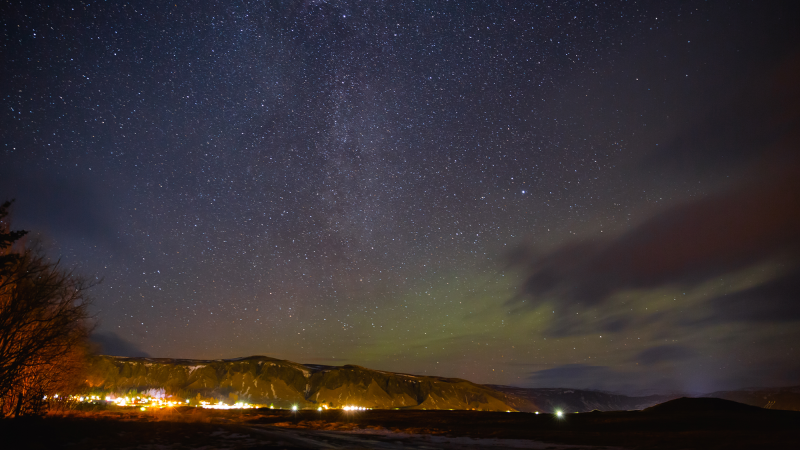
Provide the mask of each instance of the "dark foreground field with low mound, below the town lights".
POLYGON ((134 409, 0 422, 6 448, 454 449, 800 448, 800 413, 715 399, 645 411, 535 415, 477 411, 134 409))

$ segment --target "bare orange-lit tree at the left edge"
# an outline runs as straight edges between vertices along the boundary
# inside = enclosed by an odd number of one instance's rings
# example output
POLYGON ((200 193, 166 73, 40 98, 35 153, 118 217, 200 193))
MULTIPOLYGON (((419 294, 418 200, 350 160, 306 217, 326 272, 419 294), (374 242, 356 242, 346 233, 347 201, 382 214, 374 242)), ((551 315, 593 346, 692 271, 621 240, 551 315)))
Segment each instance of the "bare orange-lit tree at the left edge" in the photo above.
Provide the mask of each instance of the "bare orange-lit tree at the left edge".
POLYGON ((0 206, 0 417, 42 413, 54 394, 81 380, 90 331, 88 281, 2 222, 0 206), (16 243, 16 245, 15 245, 16 243))

